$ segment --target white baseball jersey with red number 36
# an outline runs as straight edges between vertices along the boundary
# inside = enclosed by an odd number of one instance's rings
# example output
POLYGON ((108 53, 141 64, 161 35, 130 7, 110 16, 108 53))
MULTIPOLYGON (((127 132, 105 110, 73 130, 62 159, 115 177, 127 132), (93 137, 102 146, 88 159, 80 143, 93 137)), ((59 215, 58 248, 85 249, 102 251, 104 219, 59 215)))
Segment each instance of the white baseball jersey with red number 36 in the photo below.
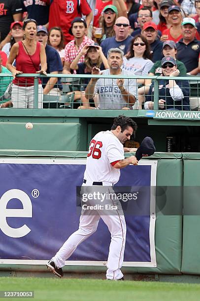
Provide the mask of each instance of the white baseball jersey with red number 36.
POLYGON ((90 142, 84 179, 116 184, 120 169, 112 165, 123 159, 124 148, 119 139, 111 131, 99 132, 90 142))

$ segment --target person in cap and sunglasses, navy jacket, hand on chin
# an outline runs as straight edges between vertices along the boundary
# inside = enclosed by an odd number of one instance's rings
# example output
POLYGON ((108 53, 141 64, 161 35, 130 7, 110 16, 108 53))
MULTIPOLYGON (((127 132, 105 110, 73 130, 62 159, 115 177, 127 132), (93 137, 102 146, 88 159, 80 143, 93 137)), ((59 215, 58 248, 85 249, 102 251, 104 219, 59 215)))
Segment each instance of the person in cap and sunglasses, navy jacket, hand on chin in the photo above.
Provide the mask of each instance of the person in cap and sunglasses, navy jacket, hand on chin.
MULTIPOLYGON (((176 60, 172 57, 163 58, 161 61, 162 75, 167 77, 176 77, 179 75, 176 60)), ((159 110, 170 111, 189 111, 189 81, 183 80, 159 80, 159 110)), ((154 109, 154 83, 150 86, 146 102, 145 110, 154 109)))

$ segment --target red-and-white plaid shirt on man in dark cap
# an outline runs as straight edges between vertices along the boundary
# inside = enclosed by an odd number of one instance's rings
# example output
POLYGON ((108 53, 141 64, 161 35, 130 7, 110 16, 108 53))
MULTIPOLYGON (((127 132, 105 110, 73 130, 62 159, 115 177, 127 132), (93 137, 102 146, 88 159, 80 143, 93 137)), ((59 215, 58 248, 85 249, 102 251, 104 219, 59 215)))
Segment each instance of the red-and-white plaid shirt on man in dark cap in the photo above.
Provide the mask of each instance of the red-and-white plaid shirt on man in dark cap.
MULTIPOLYGON (((80 47, 78 51, 76 50, 75 47, 75 40, 72 40, 69 42, 66 47, 65 47, 65 61, 72 62, 76 56, 79 54, 83 46, 85 45, 91 45, 94 44, 95 42, 91 39, 89 39, 86 35, 83 38, 83 42, 80 44, 80 47)), ((84 62, 85 56, 82 56, 78 62, 84 62)))

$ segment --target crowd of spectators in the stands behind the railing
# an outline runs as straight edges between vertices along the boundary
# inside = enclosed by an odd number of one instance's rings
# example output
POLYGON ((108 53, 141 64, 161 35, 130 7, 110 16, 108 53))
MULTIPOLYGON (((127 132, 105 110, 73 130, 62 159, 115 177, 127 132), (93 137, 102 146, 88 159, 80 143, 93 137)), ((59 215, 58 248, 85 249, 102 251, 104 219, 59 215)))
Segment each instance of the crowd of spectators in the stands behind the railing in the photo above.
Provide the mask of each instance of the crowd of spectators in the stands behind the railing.
MULTIPOLYGON (((17 74, 37 72, 127 75, 83 79, 72 91, 77 107, 152 108, 154 83, 131 78, 200 74, 200 0, 1 0, 0 58, 1 73, 13 76, 14 107, 33 107, 33 78, 17 74)), ((42 76, 39 89, 41 107, 43 94, 62 94, 61 79, 42 76)), ((189 81, 166 80, 159 90, 160 109, 189 109, 189 81)))

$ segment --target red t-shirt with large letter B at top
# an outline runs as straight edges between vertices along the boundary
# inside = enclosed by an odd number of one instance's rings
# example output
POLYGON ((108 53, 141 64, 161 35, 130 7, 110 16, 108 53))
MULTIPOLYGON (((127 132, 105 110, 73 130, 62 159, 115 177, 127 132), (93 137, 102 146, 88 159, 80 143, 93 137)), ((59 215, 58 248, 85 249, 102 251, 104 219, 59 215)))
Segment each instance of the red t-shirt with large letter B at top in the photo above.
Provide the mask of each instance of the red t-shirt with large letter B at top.
POLYGON ((61 27, 64 32, 66 44, 73 40, 73 36, 68 33, 69 28, 71 27, 71 21, 76 17, 82 17, 82 14, 87 16, 92 11, 87 0, 80 0, 79 11, 77 0, 43 1, 51 4, 49 10, 49 30, 55 26, 61 27))

